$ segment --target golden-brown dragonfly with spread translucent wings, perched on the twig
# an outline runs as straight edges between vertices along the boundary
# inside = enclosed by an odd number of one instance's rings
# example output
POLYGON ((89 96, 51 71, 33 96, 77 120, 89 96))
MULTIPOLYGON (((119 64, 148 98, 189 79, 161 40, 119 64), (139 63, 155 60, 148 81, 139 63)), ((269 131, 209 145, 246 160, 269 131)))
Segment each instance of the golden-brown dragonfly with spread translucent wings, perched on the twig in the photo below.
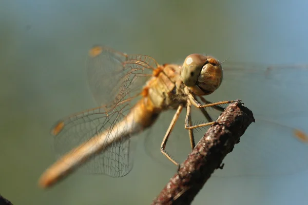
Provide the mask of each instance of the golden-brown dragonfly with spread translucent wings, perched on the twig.
POLYGON ((215 124, 213 112, 221 113, 238 99, 260 118, 225 159, 238 161, 237 166, 230 163, 218 175, 290 174, 308 167, 305 65, 220 63, 203 54, 188 55, 182 65, 161 65, 147 55, 94 46, 86 67, 89 88, 100 106, 65 117, 53 127, 55 150, 61 157, 42 174, 42 188, 53 186, 84 164, 89 173, 127 175, 133 161, 131 137, 155 122, 164 123, 160 115, 170 110, 174 117, 167 122, 160 150, 179 166, 166 151, 176 122, 182 121, 193 149, 194 131, 215 124), (198 114, 192 115, 192 110, 198 114), (205 121, 196 123, 194 116, 205 121), (252 157, 246 159, 247 154, 252 157))

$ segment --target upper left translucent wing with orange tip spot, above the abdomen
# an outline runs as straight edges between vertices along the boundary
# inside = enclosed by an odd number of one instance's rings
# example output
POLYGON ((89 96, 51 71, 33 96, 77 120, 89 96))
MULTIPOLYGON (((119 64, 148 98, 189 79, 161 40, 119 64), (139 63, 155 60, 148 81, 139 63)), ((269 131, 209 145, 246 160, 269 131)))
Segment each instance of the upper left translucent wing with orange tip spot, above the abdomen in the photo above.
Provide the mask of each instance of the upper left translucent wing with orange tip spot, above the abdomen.
POLYGON ((146 55, 127 55, 95 46, 89 52, 86 66, 94 99, 109 107, 139 94, 158 63, 146 55))

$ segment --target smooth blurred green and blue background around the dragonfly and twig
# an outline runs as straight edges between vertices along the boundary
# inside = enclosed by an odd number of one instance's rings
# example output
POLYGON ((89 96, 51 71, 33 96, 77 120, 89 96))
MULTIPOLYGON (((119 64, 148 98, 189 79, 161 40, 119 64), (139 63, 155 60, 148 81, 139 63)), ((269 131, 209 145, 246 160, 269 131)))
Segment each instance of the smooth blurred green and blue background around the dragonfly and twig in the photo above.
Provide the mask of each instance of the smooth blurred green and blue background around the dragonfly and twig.
MULTIPOLYGON (((142 142, 125 177, 76 173, 49 190, 37 186, 55 160, 52 125, 96 106, 85 75, 89 48, 107 45, 161 64, 190 53, 308 64, 307 9, 307 1, 1 1, 0 193, 13 204, 149 204, 175 169, 153 162, 142 142)), ((213 177, 193 204, 303 204, 307 183, 308 172, 213 177)))

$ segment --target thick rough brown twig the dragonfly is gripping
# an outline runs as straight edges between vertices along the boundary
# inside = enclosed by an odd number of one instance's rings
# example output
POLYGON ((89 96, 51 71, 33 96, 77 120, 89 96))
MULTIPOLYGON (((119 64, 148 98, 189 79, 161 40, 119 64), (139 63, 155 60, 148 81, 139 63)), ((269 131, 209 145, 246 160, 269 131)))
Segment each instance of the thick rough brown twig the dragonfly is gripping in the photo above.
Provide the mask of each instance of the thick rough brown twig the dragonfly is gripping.
POLYGON ((223 158, 254 121, 252 111, 242 103, 230 104, 152 204, 190 204, 210 175, 222 168, 223 158))

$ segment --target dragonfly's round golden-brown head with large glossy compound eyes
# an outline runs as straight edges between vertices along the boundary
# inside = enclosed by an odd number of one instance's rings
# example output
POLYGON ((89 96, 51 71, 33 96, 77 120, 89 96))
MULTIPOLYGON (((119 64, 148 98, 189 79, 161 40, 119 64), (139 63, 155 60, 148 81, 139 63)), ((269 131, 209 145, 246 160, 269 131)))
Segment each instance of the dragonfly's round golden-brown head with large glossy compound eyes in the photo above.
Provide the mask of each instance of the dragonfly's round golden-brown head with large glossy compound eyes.
POLYGON ((222 67, 213 57, 190 54, 183 63, 181 79, 195 94, 208 95, 219 88, 222 81, 222 67))

